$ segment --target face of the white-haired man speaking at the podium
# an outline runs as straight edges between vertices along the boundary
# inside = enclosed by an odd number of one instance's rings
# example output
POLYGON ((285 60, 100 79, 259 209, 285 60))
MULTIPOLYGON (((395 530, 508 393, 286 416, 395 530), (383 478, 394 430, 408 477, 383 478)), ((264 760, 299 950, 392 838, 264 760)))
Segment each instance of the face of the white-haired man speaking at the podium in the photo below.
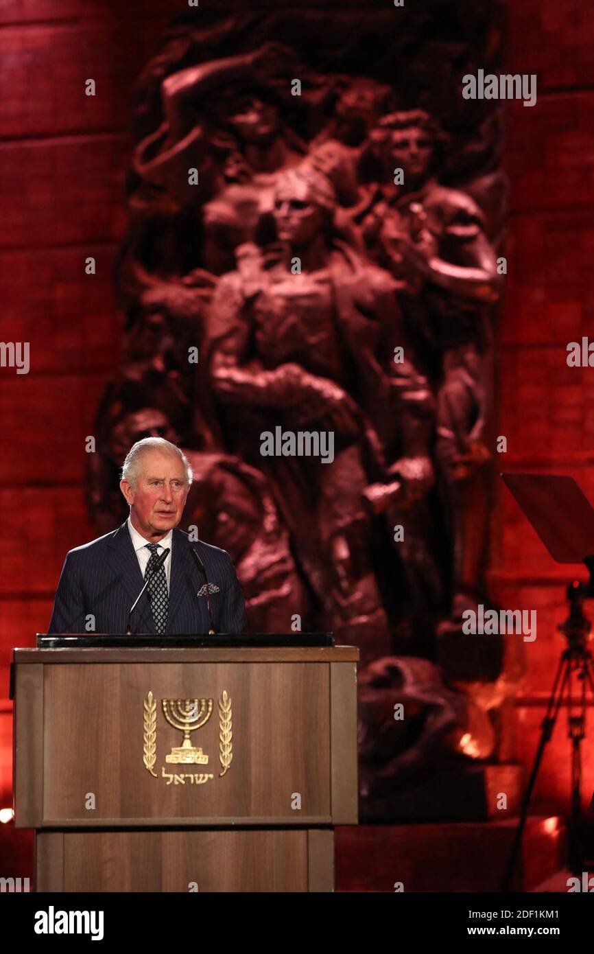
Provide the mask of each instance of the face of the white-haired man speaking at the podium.
POLYGON ((177 454, 148 450, 138 462, 139 473, 132 487, 122 480, 120 487, 130 504, 133 528, 157 543, 181 520, 188 496, 188 476, 177 454))

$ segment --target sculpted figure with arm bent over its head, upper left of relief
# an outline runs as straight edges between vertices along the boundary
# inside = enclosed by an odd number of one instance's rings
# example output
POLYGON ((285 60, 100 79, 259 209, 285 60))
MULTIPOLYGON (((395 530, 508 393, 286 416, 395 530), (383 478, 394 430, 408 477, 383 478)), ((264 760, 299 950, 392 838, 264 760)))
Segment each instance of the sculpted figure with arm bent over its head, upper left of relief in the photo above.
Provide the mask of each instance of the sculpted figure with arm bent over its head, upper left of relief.
POLYGON ((236 246, 256 238, 277 172, 306 154, 281 120, 294 61, 289 48, 266 43, 172 73, 161 85, 163 122, 134 153, 141 179, 180 208, 201 208, 202 262, 215 274, 233 268, 236 246))

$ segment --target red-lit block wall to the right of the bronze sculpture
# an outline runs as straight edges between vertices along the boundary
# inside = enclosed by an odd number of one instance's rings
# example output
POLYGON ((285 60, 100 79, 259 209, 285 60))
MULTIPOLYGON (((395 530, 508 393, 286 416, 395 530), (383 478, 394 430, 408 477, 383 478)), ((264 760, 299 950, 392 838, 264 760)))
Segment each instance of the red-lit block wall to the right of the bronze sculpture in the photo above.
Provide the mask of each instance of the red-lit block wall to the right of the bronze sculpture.
MULTIPOLYGON (((510 0, 509 73, 537 73, 533 108, 508 110, 511 180, 507 301, 499 354, 499 469, 570 474, 594 503, 594 368, 569 368, 567 342, 594 340, 594 19, 584 0, 510 0)), ((504 487, 494 515, 492 588, 504 607, 535 609, 524 643, 517 751, 531 759, 563 638, 564 585, 579 567, 557 565, 504 487)), ((593 542, 594 543, 594 542, 593 542)), ((594 605, 591 607, 594 612, 594 605)), ((594 790, 589 710, 584 799, 594 790)), ((565 716, 544 757, 535 807, 557 809, 569 786, 565 716)))

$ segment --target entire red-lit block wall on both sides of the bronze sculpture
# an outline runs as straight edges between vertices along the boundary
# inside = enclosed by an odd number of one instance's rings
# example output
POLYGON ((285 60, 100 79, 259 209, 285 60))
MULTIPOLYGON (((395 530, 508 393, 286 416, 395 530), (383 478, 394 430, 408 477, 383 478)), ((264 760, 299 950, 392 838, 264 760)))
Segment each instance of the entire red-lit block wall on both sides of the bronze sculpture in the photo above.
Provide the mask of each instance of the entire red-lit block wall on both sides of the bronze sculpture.
MULTIPOLYGON (((5 0, 0 8, 0 61, 10 80, 0 98, 0 341, 31 342, 30 374, 0 373, 3 805, 11 649, 45 630, 66 550, 92 537, 84 443, 118 358, 112 267, 126 217, 133 77, 176 10, 187 5, 5 0), (94 98, 84 95, 89 77, 94 98), (94 277, 84 272, 89 255, 94 277)), ((594 370, 565 364, 566 343, 594 330, 594 19, 583 0, 510 0, 509 18, 509 71, 538 73, 539 95, 533 109, 508 110, 512 207, 498 428, 508 452, 498 464, 573 473, 594 501, 594 370)), ((566 574, 505 492, 493 530, 493 594, 507 608, 539 612, 537 640, 524 646, 517 710, 518 751, 531 757, 562 648, 555 625, 566 574)), ((564 753, 560 727, 539 786, 551 807, 566 792, 564 753)), ((589 758, 586 790, 593 772, 589 758)))

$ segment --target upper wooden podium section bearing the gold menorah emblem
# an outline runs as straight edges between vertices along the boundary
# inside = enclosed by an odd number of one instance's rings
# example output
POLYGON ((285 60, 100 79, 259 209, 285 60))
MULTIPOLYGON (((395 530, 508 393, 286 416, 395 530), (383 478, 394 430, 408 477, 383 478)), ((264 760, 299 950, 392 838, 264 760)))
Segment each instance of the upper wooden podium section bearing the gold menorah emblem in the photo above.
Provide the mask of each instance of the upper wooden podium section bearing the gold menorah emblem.
POLYGON ((338 650, 17 653, 19 827, 357 821, 356 667, 338 650))

